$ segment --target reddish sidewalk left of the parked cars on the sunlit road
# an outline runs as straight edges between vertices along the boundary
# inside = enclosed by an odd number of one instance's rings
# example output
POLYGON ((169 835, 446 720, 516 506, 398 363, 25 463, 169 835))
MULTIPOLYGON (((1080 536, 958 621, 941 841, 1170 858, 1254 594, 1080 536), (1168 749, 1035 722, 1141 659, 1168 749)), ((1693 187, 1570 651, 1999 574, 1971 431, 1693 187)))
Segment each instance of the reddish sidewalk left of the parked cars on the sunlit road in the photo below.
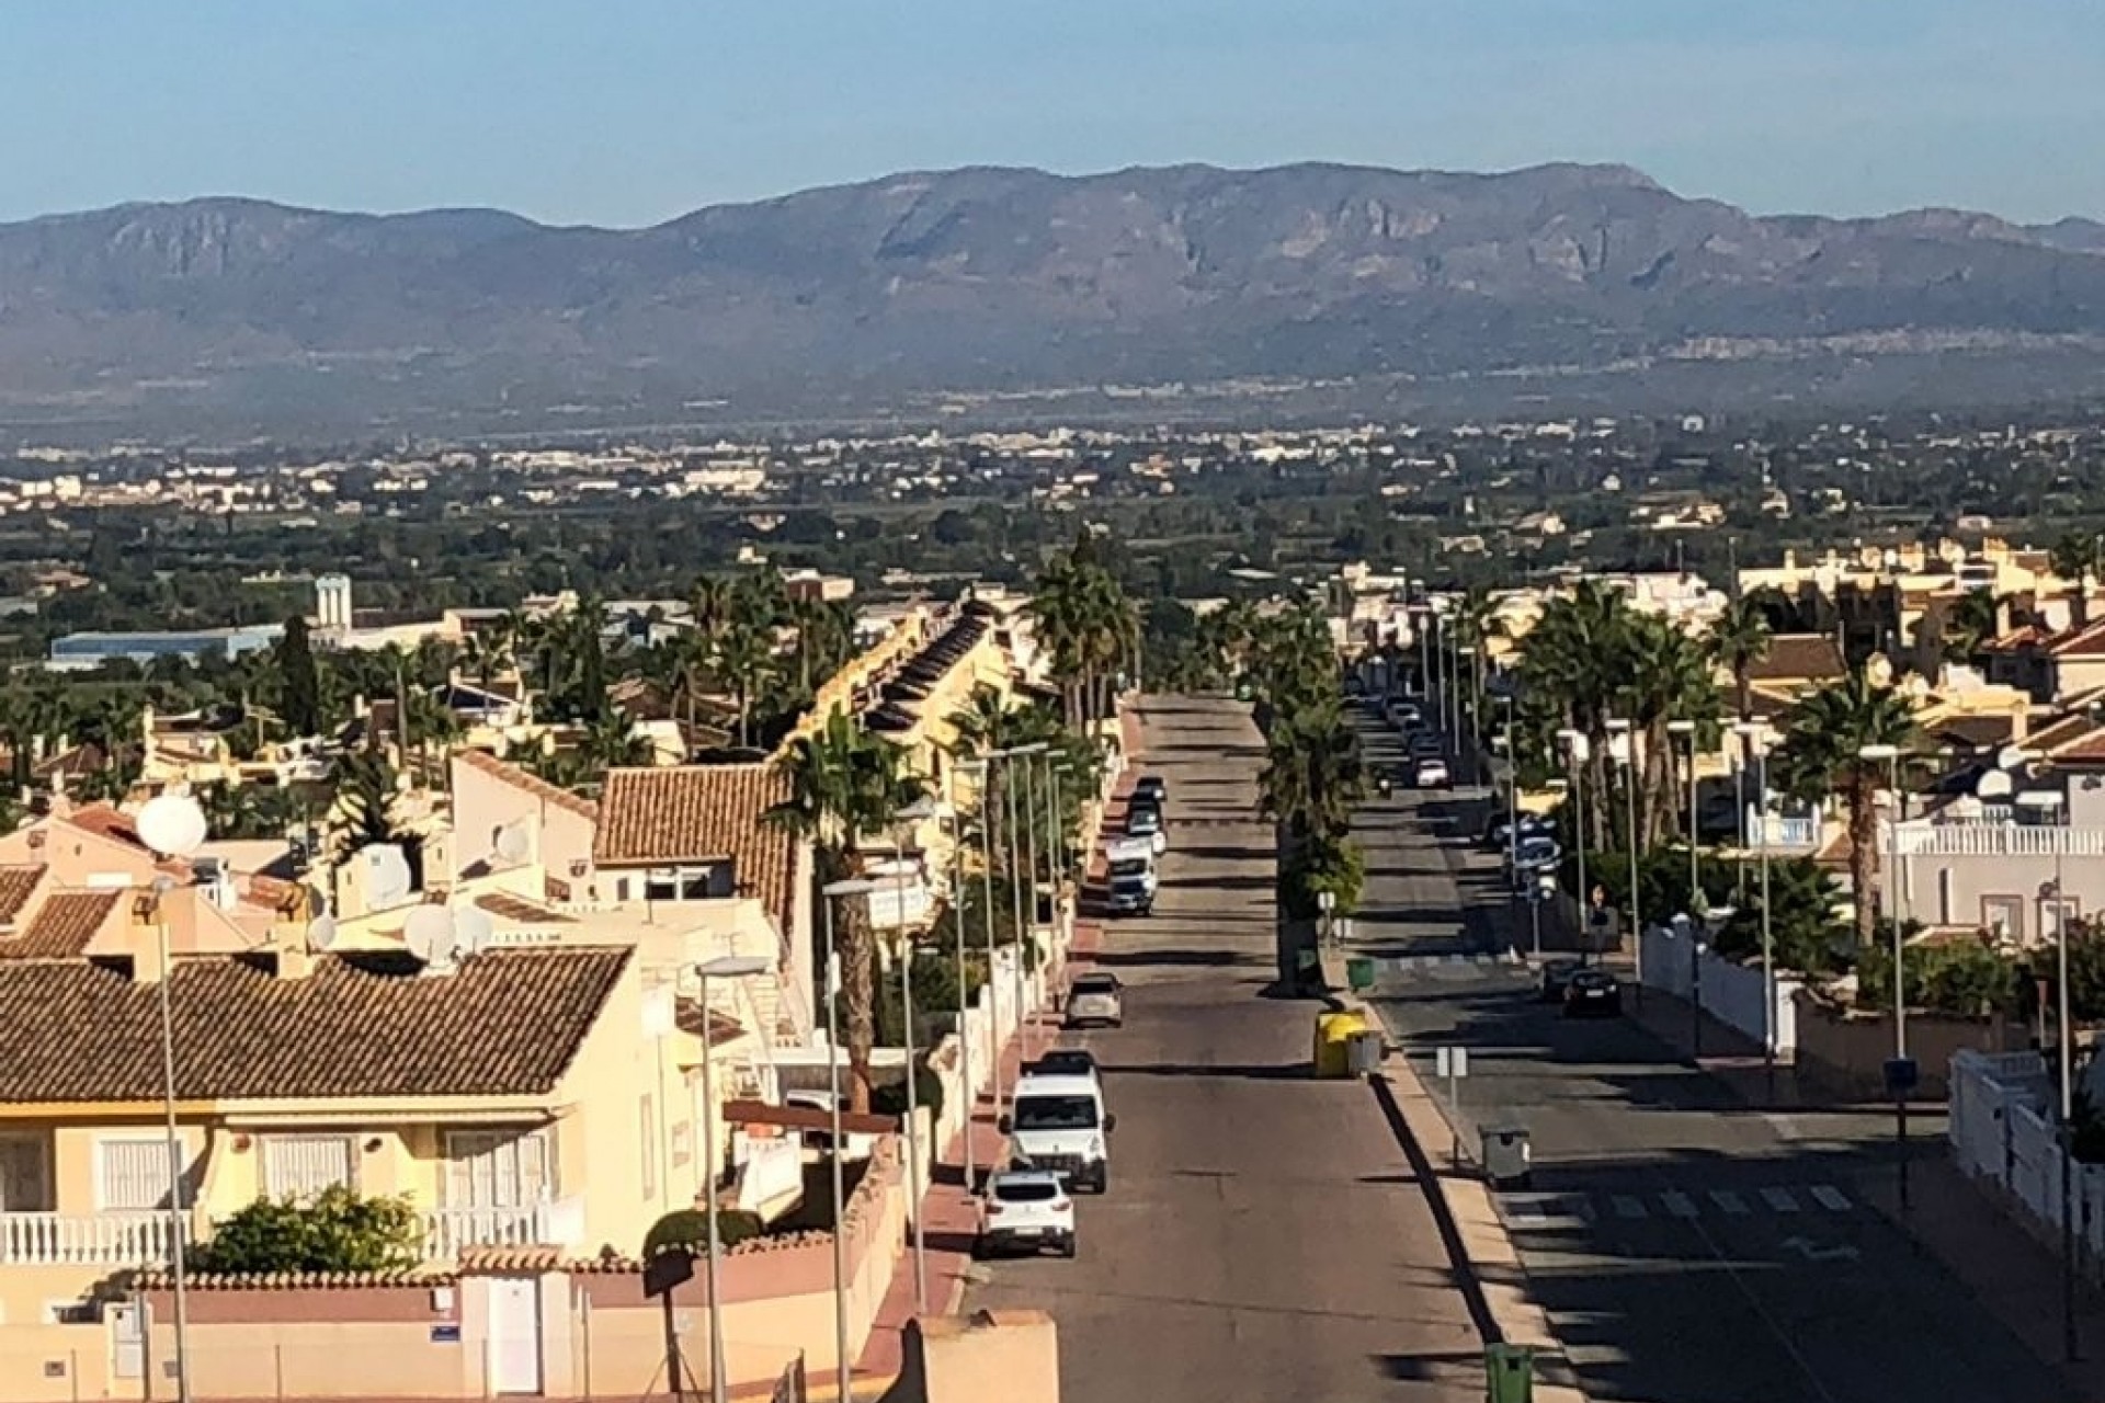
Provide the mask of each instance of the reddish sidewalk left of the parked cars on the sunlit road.
MULTIPOLYGON (((1126 724, 1132 728, 1137 738, 1137 724, 1126 724)), ((1132 755, 1130 740, 1126 755, 1132 755)), ((1105 808, 1105 825, 1122 814, 1124 801, 1132 793, 1137 778, 1139 774, 1132 766, 1118 776, 1111 791, 1111 804, 1105 808)), ((1095 894, 1101 890, 1103 848, 1092 841, 1078 904, 1084 909, 1090 907, 1095 894)), ((1071 972, 1076 965, 1092 963, 1101 947, 1103 917, 1078 915, 1063 968, 1071 972)), ((1029 1056, 1038 1056, 1059 1041, 1059 1014, 1052 1008, 1040 1008, 1025 1016, 1019 1033, 1023 1033, 1029 1041, 1029 1056)), ((968 1184, 964 1176, 966 1136, 970 1136, 973 1165, 979 1174, 985 1174, 991 1165, 1000 1163, 1006 1144, 1000 1127, 996 1125, 994 1087, 1015 1085, 1021 1052, 1023 1048, 1019 1048, 1019 1039, 1015 1035, 1002 1043, 996 1081, 989 1081, 987 1087, 975 1098, 970 1123, 960 1134, 951 1136, 951 1142, 937 1155, 928 1193, 922 1197, 922 1245, 926 1258, 930 1315, 956 1315, 964 1304, 964 1287, 970 1285, 973 1279, 973 1235, 979 1228, 979 1209, 973 1199, 973 1184, 968 1184)), ((867 1380, 876 1392, 882 1392, 880 1384, 888 1384, 899 1374, 899 1367, 905 1361, 905 1327, 914 1315, 914 1237, 909 1231, 905 1252, 899 1256, 899 1264, 893 1268, 890 1285, 884 1289, 884 1300, 878 1304, 878 1315, 869 1323, 869 1338, 863 1342, 863 1353, 855 1361, 857 1395, 863 1392, 863 1380, 867 1380)))

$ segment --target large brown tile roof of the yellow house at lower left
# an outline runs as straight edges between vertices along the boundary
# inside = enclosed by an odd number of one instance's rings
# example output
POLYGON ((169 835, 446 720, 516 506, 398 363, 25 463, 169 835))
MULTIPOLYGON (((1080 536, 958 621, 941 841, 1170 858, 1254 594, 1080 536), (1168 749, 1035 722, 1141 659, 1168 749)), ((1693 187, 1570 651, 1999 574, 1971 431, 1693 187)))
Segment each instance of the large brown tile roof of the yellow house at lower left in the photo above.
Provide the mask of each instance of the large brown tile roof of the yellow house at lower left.
MULTIPOLYGON (((198 1100, 543 1096, 632 959, 497 949, 419 978, 387 955, 179 959, 177 1094, 198 1100)), ((160 1098, 160 991, 91 961, 0 961, 0 1102, 160 1098)))

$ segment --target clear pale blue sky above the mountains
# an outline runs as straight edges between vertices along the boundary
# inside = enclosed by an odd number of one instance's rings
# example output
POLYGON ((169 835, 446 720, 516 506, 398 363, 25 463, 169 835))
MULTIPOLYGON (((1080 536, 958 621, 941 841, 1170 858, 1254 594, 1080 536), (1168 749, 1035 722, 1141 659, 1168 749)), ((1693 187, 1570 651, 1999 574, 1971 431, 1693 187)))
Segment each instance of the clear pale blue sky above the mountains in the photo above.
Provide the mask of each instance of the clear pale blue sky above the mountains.
POLYGON ((198 194, 640 225, 888 170, 1617 160, 2105 217, 2099 0, 0 0, 0 219, 198 194))

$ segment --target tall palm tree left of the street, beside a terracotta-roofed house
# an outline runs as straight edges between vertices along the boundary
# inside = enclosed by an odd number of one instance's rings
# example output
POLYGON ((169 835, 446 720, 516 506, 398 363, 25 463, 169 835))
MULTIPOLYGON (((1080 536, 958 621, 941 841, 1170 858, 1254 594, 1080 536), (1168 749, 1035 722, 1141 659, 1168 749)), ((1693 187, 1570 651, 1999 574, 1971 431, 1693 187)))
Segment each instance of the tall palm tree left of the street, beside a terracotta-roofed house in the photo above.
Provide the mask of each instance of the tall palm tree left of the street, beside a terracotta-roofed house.
MULTIPOLYGON (((905 772, 905 751, 871 736, 838 707, 817 732, 798 736, 777 766, 789 797, 768 810, 766 820, 815 846, 821 886, 861 875, 861 839, 882 833, 920 791, 905 772)), ((869 1050, 876 1041, 876 942, 867 904, 846 902, 836 932, 850 1098, 855 1113, 867 1115, 869 1050)))

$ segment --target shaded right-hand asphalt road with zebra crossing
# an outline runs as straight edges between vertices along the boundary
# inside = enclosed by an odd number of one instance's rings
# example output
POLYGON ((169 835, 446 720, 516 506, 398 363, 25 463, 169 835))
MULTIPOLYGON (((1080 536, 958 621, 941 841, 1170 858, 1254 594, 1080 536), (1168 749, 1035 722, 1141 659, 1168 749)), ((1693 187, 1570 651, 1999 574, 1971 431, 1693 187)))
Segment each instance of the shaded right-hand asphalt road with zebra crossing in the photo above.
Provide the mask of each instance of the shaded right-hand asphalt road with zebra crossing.
POLYGON ((1524 965, 1480 961, 1528 936, 1455 808, 1398 793, 1362 810, 1379 856, 1360 934, 1427 1085, 1446 1092, 1436 1048, 1465 1045, 1461 1123, 1530 1132, 1532 1182, 1499 1209, 1596 1403, 2061 1397, 1867 1203, 1892 1174, 1882 1119, 1749 1111, 1633 1022, 1564 1018, 1524 965))

